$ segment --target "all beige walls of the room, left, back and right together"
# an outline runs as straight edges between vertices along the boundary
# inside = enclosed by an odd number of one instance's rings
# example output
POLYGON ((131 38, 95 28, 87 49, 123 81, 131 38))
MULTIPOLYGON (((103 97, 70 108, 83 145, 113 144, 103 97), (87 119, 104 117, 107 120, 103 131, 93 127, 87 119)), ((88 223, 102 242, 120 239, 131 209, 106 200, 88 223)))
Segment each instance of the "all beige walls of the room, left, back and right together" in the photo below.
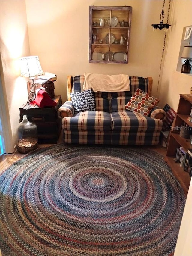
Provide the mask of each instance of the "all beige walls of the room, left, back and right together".
MULTIPOLYGON (((27 79, 19 77, 21 56, 38 55, 43 70, 57 74, 55 94, 61 94, 63 102, 67 99, 67 75, 76 76, 85 72, 152 76, 152 94, 156 96, 164 31, 152 32, 151 24, 159 23, 162 2, 1 0, 1 78, 7 100, 7 114, 10 115, 12 145, 15 144, 15 129, 19 123, 19 107, 28 99, 27 79), (133 7, 128 64, 88 63, 89 5, 133 7)), ((168 0, 165 5, 165 22, 167 7, 168 0)), ((192 25, 192 1, 172 0, 171 13, 169 23, 172 26, 167 34, 169 43, 164 55, 165 66, 158 98, 161 101, 160 106, 167 102, 176 110, 179 93, 188 93, 192 86, 191 76, 176 71, 183 27, 192 25)))

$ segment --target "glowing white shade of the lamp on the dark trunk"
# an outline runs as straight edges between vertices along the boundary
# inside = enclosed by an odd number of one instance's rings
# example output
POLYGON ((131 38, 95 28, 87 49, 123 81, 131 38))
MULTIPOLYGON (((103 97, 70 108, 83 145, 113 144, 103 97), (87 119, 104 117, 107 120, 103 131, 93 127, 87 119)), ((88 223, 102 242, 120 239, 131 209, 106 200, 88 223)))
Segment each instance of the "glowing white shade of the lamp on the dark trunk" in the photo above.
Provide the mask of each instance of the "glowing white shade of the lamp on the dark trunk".
POLYGON ((34 77, 43 75, 44 72, 41 68, 38 56, 27 56, 20 58, 21 60, 21 76, 34 77))

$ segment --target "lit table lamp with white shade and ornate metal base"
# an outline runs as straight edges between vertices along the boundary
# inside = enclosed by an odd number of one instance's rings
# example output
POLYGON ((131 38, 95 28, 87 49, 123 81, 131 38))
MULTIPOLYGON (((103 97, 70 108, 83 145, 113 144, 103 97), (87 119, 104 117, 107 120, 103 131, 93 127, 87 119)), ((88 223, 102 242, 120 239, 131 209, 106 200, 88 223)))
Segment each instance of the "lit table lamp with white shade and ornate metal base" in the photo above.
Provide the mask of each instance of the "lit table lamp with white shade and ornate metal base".
POLYGON ((27 56, 20 58, 21 60, 21 76, 22 77, 29 77, 32 79, 32 84, 30 86, 30 92, 29 92, 29 102, 35 100, 36 93, 35 93, 35 83, 34 79, 35 76, 43 75, 44 72, 41 68, 41 64, 39 62, 38 56, 27 56))

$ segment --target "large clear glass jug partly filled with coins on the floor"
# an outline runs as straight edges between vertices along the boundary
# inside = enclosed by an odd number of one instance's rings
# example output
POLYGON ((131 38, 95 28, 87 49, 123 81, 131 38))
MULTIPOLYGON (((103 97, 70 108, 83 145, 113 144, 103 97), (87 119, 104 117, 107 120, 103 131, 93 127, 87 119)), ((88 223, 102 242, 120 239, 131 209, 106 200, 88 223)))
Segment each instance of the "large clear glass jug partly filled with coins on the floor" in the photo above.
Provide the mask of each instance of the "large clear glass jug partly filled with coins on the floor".
POLYGON ((37 125, 29 122, 26 115, 17 127, 17 136, 16 148, 20 153, 26 154, 38 148, 37 125))

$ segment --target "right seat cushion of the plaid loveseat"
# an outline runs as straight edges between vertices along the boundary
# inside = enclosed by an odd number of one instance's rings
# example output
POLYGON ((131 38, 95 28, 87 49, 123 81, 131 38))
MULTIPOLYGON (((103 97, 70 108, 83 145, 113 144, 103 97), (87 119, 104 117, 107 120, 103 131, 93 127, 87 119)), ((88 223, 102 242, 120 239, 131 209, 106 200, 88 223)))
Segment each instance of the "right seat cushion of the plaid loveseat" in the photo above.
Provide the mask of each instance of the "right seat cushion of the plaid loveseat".
POLYGON ((160 132, 163 122, 131 111, 117 111, 111 113, 113 131, 129 132, 160 132))

